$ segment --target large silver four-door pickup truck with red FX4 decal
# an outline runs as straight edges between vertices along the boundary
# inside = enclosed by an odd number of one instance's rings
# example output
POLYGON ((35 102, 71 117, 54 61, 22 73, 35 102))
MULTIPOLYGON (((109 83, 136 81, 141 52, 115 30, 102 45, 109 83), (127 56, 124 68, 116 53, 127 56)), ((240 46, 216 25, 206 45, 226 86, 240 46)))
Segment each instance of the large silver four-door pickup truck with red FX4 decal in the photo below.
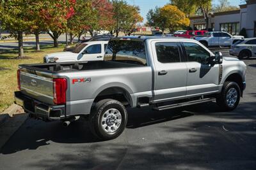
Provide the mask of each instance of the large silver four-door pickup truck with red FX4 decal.
POLYGON ((24 64, 15 103, 31 117, 86 118, 101 139, 119 136, 127 107, 168 110, 216 101, 234 110, 245 89, 246 65, 193 39, 112 38, 103 61, 24 64))

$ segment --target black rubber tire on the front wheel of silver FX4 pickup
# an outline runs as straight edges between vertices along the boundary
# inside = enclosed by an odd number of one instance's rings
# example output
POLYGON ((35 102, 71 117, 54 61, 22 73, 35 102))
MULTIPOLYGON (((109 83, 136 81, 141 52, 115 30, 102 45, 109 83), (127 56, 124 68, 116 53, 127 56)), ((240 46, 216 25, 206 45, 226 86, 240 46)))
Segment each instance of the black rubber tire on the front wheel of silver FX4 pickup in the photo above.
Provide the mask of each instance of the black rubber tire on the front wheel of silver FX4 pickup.
MULTIPOLYGON (((231 96, 231 98, 233 96, 231 96)), ((230 110, 234 110, 237 107, 237 105, 239 104, 239 101, 240 101, 240 96, 241 96, 241 90, 240 90, 239 85, 237 85, 237 83, 234 81, 225 81, 225 83, 223 84, 223 88, 221 90, 220 96, 216 97, 216 102, 222 110, 230 111, 230 110), (234 105, 232 105, 230 103, 228 104, 228 101, 227 101, 228 92, 232 91, 230 89, 236 90, 237 98, 236 98, 235 103, 233 101, 234 105)))

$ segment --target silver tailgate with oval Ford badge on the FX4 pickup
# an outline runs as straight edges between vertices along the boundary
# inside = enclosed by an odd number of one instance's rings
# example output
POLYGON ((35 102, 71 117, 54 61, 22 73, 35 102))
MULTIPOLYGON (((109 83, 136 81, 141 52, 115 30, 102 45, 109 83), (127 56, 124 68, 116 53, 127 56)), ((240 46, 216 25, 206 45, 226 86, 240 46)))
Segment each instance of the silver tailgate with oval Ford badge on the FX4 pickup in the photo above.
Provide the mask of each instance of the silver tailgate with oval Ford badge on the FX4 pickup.
POLYGON ((20 91, 42 103, 53 103, 52 78, 20 69, 20 91))

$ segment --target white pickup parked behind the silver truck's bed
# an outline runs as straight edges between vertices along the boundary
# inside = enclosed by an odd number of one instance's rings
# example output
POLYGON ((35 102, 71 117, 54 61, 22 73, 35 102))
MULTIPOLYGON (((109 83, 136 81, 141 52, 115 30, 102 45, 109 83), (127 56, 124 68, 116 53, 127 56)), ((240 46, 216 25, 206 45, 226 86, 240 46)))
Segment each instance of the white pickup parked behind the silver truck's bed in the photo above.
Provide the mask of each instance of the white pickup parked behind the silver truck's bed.
POLYGON ((72 52, 49 53, 44 56, 44 63, 103 60, 107 45, 108 41, 88 41, 76 46, 72 52))

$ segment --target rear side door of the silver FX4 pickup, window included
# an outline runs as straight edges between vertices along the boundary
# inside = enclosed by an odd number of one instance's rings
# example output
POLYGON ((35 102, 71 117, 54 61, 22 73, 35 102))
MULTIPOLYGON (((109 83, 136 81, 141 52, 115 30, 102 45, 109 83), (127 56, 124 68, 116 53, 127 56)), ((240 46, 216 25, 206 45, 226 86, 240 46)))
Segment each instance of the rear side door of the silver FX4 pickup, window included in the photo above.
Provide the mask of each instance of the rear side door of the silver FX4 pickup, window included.
POLYGON ((177 41, 152 41, 152 49, 155 65, 154 102, 185 97, 187 66, 181 62, 177 41))

